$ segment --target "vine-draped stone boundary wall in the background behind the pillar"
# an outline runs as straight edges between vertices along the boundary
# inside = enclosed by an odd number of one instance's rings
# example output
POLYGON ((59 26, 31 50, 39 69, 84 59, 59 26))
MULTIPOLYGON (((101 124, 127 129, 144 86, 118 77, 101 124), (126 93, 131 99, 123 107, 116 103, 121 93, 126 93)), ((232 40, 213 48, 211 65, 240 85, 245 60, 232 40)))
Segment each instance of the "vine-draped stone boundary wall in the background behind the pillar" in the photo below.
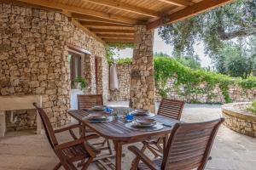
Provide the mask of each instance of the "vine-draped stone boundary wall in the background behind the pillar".
MULTIPOLYGON (((119 77, 119 89, 112 92, 110 91, 111 100, 129 100, 130 99, 130 77, 131 77, 131 65, 117 65, 118 77, 119 77)), ((174 87, 175 78, 169 80, 168 88, 170 92, 167 94, 167 98, 182 99, 188 103, 225 103, 224 95, 220 88, 214 88, 212 91, 207 91, 207 84, 201 84, 201 94, 184 94, 183 86, 178 89, 174 87)), ((233 102, 253 101, 256 99, 256 88, 243 90, 238 86, 230 86, 229 90, 230 99, 233 102)), ((160 94, 156 93, 155 98, 160 101, 160 94)))

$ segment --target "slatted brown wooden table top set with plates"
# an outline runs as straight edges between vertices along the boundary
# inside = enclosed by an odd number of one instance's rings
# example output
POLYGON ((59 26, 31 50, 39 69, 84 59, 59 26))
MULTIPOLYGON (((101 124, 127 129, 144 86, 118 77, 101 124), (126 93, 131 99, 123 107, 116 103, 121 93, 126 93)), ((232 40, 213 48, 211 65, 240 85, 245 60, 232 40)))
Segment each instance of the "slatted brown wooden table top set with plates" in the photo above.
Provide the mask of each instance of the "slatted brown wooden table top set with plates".
POLYGON ((165 135, 166 133, 171 133, 173 125, 179 122, 175 119, 171 119, 166 116, 155 115, 150 118, 153 118, 161 124, 172 125, 172 127, 164 125, 164 127, 160 130, 145 132, 139 130, 132 130, 130 128, 125 127, 126 122, 123 117, 116 118, 112 122, 91 123, 83 120, 84 116, 88 116, 90 114, 89 111, 73 110, 68 111, 68 113, 70 116, 73 116, 73 118, 75 118, 79 122, 84 123, 85 126, 92 128, 94 131, 96 131, 96 133, 99 133, 102 137, 122 141, 131 141, 137 139, 145 139, 150 136, 165 135))

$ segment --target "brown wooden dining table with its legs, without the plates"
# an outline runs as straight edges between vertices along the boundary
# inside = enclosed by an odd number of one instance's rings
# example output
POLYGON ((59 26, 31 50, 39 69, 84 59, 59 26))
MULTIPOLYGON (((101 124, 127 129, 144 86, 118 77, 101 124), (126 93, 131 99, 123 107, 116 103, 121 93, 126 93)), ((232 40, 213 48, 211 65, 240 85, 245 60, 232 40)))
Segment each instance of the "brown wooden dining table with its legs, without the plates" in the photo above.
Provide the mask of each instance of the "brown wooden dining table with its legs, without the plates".
MULTIPOLYGON (((122 146, 124 144, 131 144, 139 141, 143 141, 148 137, 152 136, 165 136, 171 133, 172 127, 164 126, 164 128, 158 131, 136 131, 125 127, 125 120, 123 118, 118 118, 113 120, 113 122, 103 122, 103 123, 90 123, 83 120, 84 116, 88 116, 89 113, 81 110, 68 111, 70 116, 73 116, 76 120, 83 123, 85 126, 90 127, 96 133, 100 134, 106 139, 112 139, 114 144, 114 149, 116 151, 115 167, 117 170, 121 170, 121 159, 122 159, 122 146)), ((166 116, 156 115, 154 118, 157 122, 173 124, 179 122, 177 120, 167 118, 166 116)))

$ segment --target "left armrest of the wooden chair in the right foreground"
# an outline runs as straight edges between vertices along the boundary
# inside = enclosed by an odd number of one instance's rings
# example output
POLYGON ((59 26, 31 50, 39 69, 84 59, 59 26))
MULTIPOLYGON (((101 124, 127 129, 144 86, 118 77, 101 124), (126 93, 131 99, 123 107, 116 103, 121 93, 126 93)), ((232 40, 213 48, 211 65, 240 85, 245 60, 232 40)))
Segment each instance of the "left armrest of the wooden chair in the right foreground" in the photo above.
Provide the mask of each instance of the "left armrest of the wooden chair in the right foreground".
POLYGON ((129 146, 128 150, 131 150, 143 163, 145 163, 152 170, 160 170, 160 167, 154 164, 147 156, 143 154, 143 152, 137 149, 136 146, 129 146))

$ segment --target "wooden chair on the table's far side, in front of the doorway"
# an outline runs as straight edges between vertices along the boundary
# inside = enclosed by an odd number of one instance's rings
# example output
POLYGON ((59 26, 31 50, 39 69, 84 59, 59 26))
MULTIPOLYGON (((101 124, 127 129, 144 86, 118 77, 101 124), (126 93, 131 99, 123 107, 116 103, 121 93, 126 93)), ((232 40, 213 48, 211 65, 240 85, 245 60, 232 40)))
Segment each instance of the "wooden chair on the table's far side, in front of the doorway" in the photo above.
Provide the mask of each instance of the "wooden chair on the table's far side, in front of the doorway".
MULTIPOLYGON (((90 109, 95 105, 103 105, 102 94, 79 94, 78 95, 78 108, 79 110, 90 109)), ((86 133, 94 133, 90 129, 86 129, 86 133)), ((113 154, 112 147, 108 139, 104 139, 103 142, 92 144, 95 146, 102 145, 102 147, 97 147, 97 150, 108 150, 109 154, 113 154), (105 147, 104 145, 107 144, 105 147)))

